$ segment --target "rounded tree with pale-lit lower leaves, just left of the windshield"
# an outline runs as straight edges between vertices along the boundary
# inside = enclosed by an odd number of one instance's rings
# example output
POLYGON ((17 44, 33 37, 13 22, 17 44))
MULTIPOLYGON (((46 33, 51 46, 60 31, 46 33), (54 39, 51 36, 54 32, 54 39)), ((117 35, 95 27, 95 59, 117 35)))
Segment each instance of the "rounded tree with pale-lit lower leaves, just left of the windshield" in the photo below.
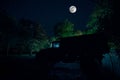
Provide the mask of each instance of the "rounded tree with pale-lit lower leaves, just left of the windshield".
POLYGON ((20 38, 23 38, 25 52, 32 54, 48 47, 48 36, 39 23, 22 19, 20 38))

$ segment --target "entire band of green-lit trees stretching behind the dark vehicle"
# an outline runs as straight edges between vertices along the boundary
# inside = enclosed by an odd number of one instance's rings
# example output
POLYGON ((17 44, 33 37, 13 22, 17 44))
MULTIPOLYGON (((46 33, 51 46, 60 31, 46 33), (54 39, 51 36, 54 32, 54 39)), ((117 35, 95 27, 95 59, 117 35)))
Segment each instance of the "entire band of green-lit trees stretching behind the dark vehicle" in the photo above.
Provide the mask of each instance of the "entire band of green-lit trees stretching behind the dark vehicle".
POLYGON ((110 47, 120 50, 120 32, 117 28, 119 22, 114 19, 114 17, 117 18, 117 13, 113 14, 115 11, 112 3, 114 3, 113 0, 96 1, 96 6, 86 24, 86 30, 75 30, 74 23, 66 19, 53 26, 53 36, 48 36, 41 23, 27 19, 17 21, 7 12, 0 11, 0 53, 32 54, 49 48, 50 43, 59 38, 98 32, 104 32, 108 36, 110 47))

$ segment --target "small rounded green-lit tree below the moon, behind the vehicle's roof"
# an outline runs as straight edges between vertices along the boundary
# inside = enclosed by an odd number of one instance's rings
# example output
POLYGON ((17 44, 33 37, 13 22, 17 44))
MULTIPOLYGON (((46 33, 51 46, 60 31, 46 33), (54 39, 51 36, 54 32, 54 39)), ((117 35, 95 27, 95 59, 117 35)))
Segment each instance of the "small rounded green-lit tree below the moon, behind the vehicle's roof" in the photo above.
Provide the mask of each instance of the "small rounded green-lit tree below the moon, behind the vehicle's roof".
POLYGON ((54 34, 57 38, 73 36, 74 24, 68 20, 60 22, 54 27, 54 34))

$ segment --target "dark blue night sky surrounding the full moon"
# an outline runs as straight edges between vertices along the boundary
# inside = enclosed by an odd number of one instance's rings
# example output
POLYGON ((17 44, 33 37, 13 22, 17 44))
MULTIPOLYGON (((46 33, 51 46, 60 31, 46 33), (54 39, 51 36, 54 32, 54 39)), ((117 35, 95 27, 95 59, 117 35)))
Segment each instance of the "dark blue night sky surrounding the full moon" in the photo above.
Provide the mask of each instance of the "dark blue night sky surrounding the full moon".
POLYGON ((90 0, 4 0, 0 1, 0 7, 17 20, 39 22, 52 35, 54 25, 65 19, 70 20, 75 29, 84 30, 94 4, 90 0), (77 7, 75 14, 69 12, 71 5, 77 7))

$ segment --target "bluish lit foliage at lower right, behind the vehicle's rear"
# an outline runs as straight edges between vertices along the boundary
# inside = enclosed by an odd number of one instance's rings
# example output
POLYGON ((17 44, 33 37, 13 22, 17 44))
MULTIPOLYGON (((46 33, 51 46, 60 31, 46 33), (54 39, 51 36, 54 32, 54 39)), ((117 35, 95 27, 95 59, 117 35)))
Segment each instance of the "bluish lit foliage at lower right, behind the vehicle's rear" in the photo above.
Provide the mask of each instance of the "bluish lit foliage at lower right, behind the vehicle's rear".
POLYGON ((102 66, 120 75, 120 57, 116 54, 115 49, 110 49, 109 54, 104 54, 102 66))

